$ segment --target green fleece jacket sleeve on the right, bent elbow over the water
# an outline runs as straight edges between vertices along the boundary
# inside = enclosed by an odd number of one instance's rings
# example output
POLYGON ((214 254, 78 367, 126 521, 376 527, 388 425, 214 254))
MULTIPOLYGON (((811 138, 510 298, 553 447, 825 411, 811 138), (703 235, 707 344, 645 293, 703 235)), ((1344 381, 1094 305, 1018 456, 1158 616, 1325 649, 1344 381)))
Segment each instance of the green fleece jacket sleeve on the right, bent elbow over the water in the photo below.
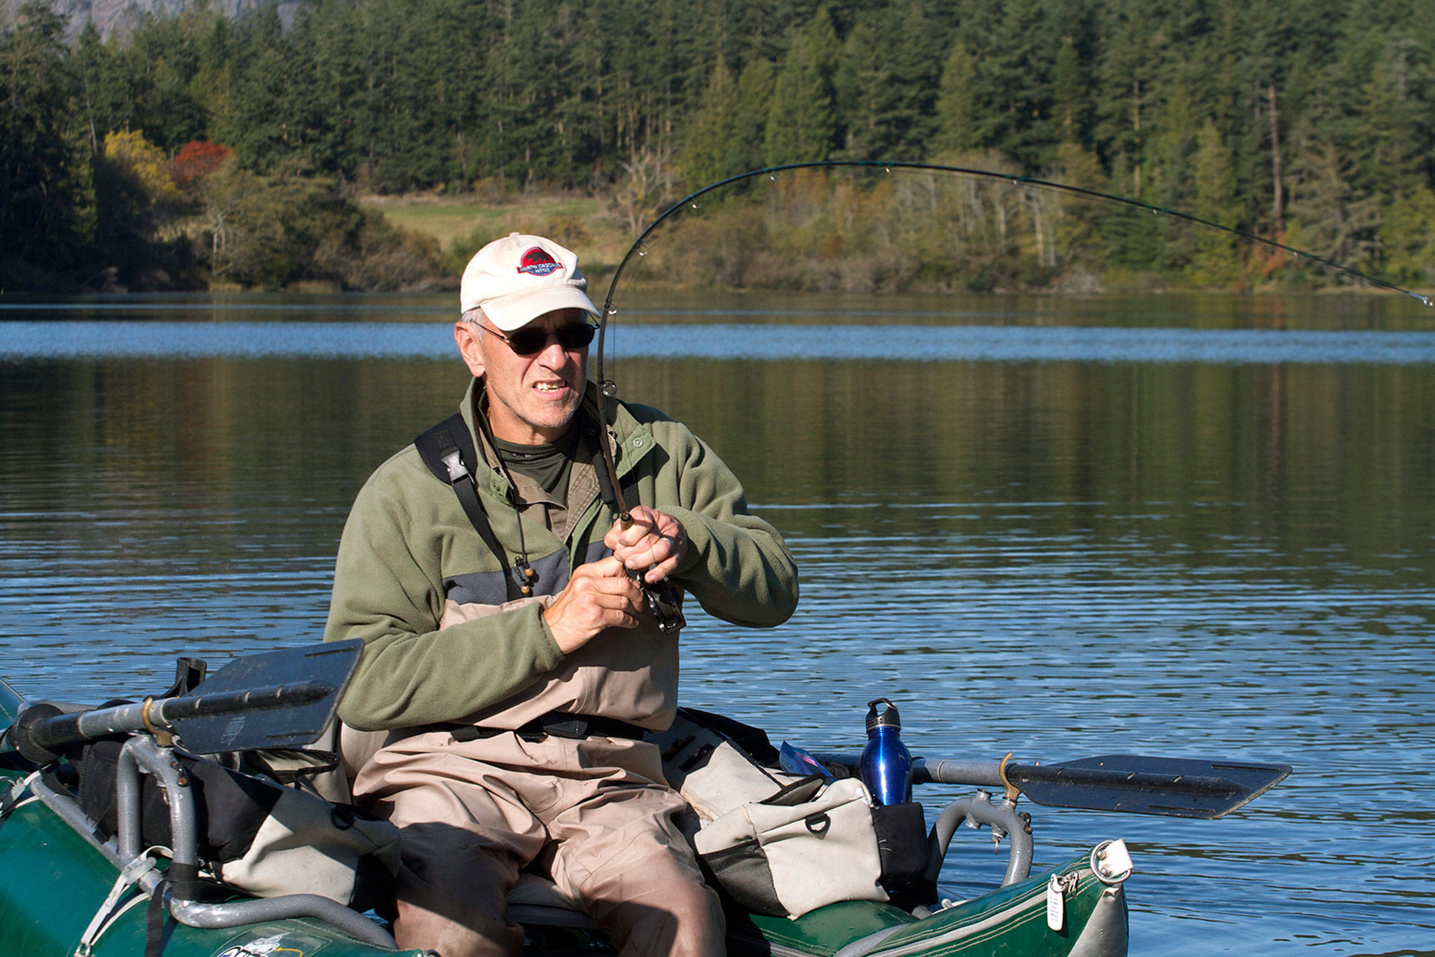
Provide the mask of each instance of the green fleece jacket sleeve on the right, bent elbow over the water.
POLYGON ((649 428, 670 456, 654 508, 687 532, 687 555, 673 578, 723 621, 786 621, 798 604, 798 567, 782 535, 748 512, 738 476, 686 426, 657 420, 649 428))

